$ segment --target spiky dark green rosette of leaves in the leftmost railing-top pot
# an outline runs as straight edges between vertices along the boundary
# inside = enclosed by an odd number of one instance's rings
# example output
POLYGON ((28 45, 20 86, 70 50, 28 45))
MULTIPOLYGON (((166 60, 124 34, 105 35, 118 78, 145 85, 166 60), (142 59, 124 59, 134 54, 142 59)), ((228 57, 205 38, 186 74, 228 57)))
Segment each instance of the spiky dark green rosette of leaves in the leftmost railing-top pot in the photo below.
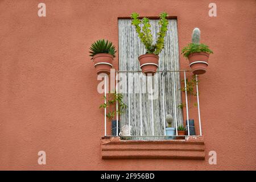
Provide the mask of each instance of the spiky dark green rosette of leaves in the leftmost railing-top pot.
POLYGON ((109 53, 113 57, 115 57, 115 53, 117 51, 115 50, 115 46, 112 42, 109 42, 108 40, 97 40, 96 42, 92 43, 92 46, 90 46, 89 53, 90 56, 97 55, 97 53, 109 53))

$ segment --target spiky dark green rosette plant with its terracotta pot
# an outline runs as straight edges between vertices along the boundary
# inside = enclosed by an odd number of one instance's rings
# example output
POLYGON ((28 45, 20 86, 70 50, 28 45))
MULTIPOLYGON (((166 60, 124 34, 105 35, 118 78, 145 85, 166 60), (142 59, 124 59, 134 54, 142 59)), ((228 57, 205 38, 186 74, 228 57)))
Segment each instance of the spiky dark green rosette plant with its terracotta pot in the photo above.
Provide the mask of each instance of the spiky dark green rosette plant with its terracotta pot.
POLYGON ((113 67, 112 62, 115 57, 115 46, 108 40, 97 40, 90 46, 89 53, 94 61, 94 67, 99 75, 100 73, 110 74, 110 69, 113 67))

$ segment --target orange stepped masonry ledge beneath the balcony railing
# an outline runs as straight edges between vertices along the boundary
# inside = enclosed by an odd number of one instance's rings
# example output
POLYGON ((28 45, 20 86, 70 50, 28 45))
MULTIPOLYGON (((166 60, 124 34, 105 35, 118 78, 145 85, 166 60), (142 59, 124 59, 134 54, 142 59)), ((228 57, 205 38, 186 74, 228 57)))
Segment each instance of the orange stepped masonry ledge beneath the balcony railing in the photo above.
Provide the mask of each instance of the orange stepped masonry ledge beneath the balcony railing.
POLYGON ((121 140, 102 137, 102 159, 205 159, 203 137, 184 140, 121 140))

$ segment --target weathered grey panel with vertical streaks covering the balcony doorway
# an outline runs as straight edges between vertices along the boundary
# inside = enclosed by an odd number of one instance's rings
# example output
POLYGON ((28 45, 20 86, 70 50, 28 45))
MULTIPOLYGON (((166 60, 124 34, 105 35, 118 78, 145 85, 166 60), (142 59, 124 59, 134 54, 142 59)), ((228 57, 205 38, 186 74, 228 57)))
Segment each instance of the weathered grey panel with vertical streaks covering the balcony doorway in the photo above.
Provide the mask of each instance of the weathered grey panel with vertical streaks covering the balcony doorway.
MULTIPOLYGON (((179 70, 179 45, 177 37, 177 20, 168 20, 168 31, 165 38, 165 47, 160 53, 159 68, 158 70, 179 70)), ((156 40, 157 32, 159 31, 158 20, 150 20, 151 32, 153 39, 156 40)), ((135 32, 134 26, 131 26, 130 19, 118 20, 118 38, 119 38, 119 70, 120 71, 141 71, 139 68, 138 56, 146 53, 141 40, 135 32)), ((127 73, 123 73, 126 74, 127 73)), ((168 72, 164 76, 164 102, 163 102, 163 85, 162 77, 155 77, 154 85, 158 88, 158 98, 155 100, 148 100, 148 94, 139 94, 135 89, 139 88, 138 75, 141 73, 132 73, 137 78, 130 78, 130 114, 128 109, 121 115, 121 126, 131 125, 131 135, 164 135, 164 118, 165 115, 171 114, 175 119, 175 103, 176 100, 176 118, 177 123, 183 124, 182 110, 177 108, 181 104, 181 91, 180 91, 180 73, 168 72), (174 80, 175 79, 175 80, 174 80), (176 88, 174 88, 174 81, 176 88), (176 99, 174 98, 174 89, 176 90, 176 99), (142 98, 142 103, 140 102, 142 98), (153 104, 153 105, 152 105, 153 104), (142 106, 142 109, 141 109, 142 106), (163 113, 163 106, 165 115, 163 113), (142 113, 141 113, 142 111, 142 113), (153 114, 152 114, 153 111, 153 114), (130 115, 130 116, 129 116, 130 115), (152 119, 153 117, 153 119, 152 119), (141 133, 141 120, 142 120, 142 133, 141 133), (153 121, 153 122, 152 122, 153 121), (154 127, 154 133, 153 133, 154 127)), ((146 84, 146 80, 142 82, 146 84)), ((126 93, 123 94, 123 101, 128 105, 128 84, 125 85, 126 93)), ((145 88, 141 88, 145 89, 145 88)))

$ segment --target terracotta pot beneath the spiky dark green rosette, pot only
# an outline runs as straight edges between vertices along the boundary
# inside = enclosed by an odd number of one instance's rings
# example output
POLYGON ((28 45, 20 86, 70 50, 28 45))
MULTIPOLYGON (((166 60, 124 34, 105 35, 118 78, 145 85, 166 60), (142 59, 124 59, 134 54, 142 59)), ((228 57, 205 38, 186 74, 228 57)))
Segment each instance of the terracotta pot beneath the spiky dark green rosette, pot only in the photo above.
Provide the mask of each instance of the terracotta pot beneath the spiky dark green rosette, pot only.
POLYGON ((113 58, 113 55, 109 53, 97 53, 93 56, 94 68, 98 75, 100 73, 110 74, 110 69, 113 67, 113 58))

